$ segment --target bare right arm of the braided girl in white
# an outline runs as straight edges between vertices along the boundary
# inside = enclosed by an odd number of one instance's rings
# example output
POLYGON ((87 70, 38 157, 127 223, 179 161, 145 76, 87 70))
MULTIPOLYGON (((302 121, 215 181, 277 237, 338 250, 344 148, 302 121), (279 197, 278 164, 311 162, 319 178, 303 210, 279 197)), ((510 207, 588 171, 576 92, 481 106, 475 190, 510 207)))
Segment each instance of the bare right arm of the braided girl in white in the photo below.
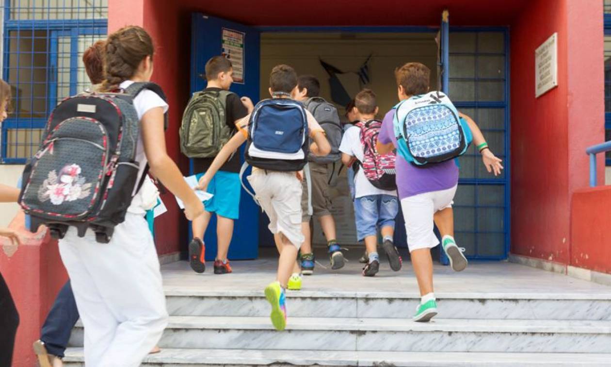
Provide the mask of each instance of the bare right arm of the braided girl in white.
POLYGON ((166 152, 166 138, 163 129, 163 108, 149 109, 142 116, 142 141, 144 153, 153 176, 185 203, 185 217, 193 220, 203 213, 203 204, 187 185, 183 174, 166 152))

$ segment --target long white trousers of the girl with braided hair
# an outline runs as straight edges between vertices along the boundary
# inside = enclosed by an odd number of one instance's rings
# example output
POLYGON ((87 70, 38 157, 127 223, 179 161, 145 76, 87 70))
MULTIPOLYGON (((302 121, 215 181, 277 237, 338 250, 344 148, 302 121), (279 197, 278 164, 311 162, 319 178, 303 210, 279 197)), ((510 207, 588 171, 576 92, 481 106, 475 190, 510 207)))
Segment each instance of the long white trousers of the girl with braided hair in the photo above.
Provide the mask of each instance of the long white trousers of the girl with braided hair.
POLYGON ((87 367, 136 367, 167 326, 159 259, 147 222, 127 213, 110 243, 70 228, 59 241, 85 328, 87 367))

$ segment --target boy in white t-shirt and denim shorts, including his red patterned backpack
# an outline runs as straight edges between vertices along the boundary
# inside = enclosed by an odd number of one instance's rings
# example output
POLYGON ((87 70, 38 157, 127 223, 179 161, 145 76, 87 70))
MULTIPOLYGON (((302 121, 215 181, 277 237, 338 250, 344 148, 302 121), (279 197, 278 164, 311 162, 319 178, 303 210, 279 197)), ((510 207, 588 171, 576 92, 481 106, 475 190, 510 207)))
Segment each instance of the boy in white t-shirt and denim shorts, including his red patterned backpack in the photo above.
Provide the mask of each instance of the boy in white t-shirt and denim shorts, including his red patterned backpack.
POLYGON ((378 228, 390 268, 397 272, 401 269, 401 256, 393 244, 395 217, 399 211, 394 174, 396 157, 393 152, 386 155, 376 152, 375 141, 381 122, 375 119, 378 114, 375 93, 370 89, 360 91, 354 98, 353 110, 359 122, 346 130, 340 151, 342 163, 356 169, 354 218, 357 240, 365 242, 368 254, 363 275, 374 276, 379 270, 378 228))

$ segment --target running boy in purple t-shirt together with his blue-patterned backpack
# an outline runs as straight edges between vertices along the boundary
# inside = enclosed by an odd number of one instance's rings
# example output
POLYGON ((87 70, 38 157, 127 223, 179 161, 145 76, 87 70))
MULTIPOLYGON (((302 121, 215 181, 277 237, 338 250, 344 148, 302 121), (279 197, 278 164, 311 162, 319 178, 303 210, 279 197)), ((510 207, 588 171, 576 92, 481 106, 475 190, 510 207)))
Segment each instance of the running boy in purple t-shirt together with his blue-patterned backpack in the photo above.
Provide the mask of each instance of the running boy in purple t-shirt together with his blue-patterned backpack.
POLYGON ((429 92, 428 67, 409 62, 395 70, 395 77, 401 102, 384 117, 378 152, 397 149, 397 188, 422 296, 413 319, 427 322, 437 314, 430 249, 439 241, 433 222, 442 235, 442 248, 452 269, 459 272, 467 267, 464 249, 456 246, 453 237, 452 202, 458 185, 458 166, 453 158, 464 154, 472 140, 488 172, 494 171, 496 176, 503 166, 475 122, 459 114, 442 92, 429 92))

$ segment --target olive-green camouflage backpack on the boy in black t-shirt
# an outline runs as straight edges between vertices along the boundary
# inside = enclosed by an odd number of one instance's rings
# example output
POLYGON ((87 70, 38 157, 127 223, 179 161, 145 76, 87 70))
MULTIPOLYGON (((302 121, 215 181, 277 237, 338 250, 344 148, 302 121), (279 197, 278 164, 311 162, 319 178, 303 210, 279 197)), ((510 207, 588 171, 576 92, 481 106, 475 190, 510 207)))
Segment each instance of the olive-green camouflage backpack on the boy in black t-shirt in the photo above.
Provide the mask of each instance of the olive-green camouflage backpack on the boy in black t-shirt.
POLYGON ((180 151, 189 158, 214 158, 231 139, 225 106, 230 91, 196 92, 180 125, 180 151))

